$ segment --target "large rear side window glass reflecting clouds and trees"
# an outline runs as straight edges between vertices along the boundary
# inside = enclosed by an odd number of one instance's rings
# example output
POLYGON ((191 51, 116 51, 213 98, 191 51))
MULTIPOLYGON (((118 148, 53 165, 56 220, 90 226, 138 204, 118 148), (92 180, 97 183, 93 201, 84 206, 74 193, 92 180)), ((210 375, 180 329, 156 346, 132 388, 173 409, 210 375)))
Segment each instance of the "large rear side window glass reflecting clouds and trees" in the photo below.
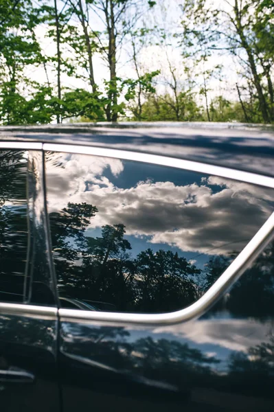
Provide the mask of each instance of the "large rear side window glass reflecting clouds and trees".
POLYGON ((60 297, 170 312, 199 299, 273 210, 273 190, 134 161, 48 153, 60 297))

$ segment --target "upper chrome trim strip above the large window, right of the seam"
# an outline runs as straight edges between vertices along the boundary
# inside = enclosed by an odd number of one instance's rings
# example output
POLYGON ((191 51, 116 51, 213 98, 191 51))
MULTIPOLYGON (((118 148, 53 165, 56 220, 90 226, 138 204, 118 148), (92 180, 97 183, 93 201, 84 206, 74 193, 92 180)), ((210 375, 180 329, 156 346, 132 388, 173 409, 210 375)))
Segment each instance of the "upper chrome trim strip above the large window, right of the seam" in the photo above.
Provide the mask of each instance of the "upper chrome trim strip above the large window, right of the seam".
POLYGON ((73 144, 55 144, 44 143, 43 150, 76 153, 78 155, 93 155, 101 157, 111 157, 122 160, 132 160, 144 163, 152 163, 156 165, 169 166, 183 170, 190 170, 192 172, 214 174, 215 176, 225 177, 244 183, 253 183, 255 185, 271 187, 274 189, 274 178, 255 174, 251 172, 244 172, 243 170, 235 170, 224 168, 218 165, 211 165, 208 163, 201 163, 198 161, 190 161, 186 159, 177 159, 176 157, 167 157, 160 155, 150 155, 143 152, 130 152, 129 150, 98 148, 95 146, 82 146, 73 144))

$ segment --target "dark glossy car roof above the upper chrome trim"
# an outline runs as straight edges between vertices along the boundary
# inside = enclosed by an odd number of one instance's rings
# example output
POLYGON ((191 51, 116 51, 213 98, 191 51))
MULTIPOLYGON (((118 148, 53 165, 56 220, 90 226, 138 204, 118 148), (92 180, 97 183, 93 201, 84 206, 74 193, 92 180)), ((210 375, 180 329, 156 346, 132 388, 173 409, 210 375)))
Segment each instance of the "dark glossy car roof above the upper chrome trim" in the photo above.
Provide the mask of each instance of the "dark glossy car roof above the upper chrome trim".
POLYGON ((274 126, 200 122, 0 126, 0 142, 14 140, 132 150, 274 176, 274 126))

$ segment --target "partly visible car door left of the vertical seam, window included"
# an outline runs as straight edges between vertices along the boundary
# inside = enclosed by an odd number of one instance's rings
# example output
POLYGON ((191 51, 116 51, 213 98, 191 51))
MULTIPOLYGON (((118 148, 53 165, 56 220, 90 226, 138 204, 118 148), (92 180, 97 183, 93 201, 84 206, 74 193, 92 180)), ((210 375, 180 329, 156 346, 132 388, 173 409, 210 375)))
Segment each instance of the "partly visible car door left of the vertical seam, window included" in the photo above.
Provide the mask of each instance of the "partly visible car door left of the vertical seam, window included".
POLYGON ((46 233, 43 152, 31 150, 41 146, 35 143, 1 146, 1 410, 57 412, 58 321, 46 233))

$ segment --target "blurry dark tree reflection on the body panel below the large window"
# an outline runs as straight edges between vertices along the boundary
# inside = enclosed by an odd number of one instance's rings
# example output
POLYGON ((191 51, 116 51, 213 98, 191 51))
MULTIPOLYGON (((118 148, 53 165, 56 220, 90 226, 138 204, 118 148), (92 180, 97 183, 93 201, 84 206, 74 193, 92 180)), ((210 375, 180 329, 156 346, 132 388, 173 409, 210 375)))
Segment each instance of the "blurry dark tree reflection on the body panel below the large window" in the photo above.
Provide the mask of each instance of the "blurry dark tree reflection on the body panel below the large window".
POLYGON ((62 351, 69 352, 70 336, 75 336, 78 345, 73 354, 89 358, 95 367, 112 367, 127 376, 167 382, 184 390, 192 382, 203 382, 205 375, 214 376, 214 365, 219 363, 214 356, 205 356, 201 350, 180 341, 151 336, 129 339, 130 332, 122 327, 65 323, 62 331, 62 351))

